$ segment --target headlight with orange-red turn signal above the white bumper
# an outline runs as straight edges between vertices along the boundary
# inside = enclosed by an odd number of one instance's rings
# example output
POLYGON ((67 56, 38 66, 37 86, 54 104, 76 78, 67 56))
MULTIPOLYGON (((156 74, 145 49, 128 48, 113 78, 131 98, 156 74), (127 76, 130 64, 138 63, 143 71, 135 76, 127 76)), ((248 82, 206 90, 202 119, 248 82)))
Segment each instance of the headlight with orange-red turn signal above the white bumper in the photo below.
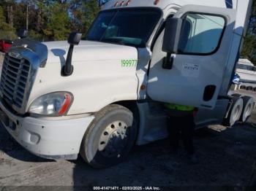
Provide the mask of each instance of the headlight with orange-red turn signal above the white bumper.
POLYGON ((29 112, 50 116, 61 116, 67 114, 73 101, 71 93, 57 92, 42 95, 29 107, 29 112))

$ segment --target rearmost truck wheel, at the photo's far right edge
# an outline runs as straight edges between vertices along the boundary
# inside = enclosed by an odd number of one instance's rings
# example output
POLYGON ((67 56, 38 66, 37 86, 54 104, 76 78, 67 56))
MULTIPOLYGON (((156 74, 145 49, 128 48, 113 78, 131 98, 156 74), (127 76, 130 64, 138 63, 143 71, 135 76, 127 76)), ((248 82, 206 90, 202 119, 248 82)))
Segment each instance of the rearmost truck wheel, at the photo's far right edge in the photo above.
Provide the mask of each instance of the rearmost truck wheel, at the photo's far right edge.
POLYGON ((253 107, 255 105, 255 102, 252 97, 244 96, 243 101, 244 101, 244 107, 240 117, 240 122, 246 122, 249 119, 249 117, 252 114, 253 107))

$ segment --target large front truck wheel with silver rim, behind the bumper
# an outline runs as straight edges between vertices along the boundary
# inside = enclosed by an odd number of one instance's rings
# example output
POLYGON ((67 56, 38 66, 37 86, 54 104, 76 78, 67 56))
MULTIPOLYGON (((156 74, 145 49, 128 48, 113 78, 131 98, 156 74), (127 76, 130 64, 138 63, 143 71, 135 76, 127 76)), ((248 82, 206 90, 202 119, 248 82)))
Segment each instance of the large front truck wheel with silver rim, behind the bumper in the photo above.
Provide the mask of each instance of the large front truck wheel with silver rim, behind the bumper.
POLYGON ((83 137, 80 155, 94 168, 124 160, 137 136, 136 117, 124 106, 110 105, 96 114, 83 137))

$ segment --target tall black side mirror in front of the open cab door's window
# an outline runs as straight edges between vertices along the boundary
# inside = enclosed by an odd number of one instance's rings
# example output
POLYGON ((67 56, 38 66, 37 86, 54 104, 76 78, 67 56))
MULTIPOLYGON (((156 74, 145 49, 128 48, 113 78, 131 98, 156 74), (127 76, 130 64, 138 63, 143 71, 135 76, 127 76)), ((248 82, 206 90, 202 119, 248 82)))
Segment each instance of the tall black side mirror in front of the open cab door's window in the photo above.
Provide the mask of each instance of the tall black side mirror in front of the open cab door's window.
POLYGON ((165 24, 165 35, 162 42, 162 51, 167 52, 166 58, 162 63, 163 69, 173 68, 172 54, 178 52, 178 44, 181 36, 181 30, 183 26, 181 18, 168 18, 165 24))

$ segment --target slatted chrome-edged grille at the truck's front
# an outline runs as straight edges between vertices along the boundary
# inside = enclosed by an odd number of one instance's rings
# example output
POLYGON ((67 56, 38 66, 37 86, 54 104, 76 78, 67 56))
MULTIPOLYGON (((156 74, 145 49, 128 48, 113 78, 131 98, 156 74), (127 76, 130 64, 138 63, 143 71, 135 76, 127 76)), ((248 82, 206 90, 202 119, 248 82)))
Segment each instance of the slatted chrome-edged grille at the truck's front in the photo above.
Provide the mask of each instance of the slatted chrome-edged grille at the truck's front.
POLYGON ((1 71, 1 94, 10 106, 23 106, 26 84, 29 77, 30 63, 26 59, 12 58, 5 55, 1 71))

